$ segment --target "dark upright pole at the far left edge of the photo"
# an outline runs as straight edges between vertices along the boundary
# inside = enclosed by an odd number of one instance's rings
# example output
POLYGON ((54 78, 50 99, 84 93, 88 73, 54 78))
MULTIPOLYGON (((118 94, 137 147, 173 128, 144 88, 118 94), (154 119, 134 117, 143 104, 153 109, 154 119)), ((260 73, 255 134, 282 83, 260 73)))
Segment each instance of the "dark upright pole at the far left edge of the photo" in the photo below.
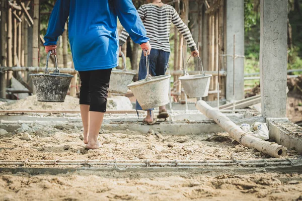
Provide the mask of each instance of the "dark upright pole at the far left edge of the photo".
MULTIPOLYGON (((1 66, 7 65, 7 1, 1 1, 1 66)), ((6 98, 6 72, 1 73, 1 98, 6 98)))

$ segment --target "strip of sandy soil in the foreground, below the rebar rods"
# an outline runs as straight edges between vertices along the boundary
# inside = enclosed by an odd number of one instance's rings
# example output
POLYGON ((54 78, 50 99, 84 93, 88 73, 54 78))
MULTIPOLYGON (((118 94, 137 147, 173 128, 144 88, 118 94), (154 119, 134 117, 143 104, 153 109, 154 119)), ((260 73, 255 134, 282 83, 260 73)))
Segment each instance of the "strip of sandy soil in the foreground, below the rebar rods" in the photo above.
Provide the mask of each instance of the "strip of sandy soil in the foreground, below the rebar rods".
POLYGON ((302 200, 302 175, 0 174, 0 200, 302 200))

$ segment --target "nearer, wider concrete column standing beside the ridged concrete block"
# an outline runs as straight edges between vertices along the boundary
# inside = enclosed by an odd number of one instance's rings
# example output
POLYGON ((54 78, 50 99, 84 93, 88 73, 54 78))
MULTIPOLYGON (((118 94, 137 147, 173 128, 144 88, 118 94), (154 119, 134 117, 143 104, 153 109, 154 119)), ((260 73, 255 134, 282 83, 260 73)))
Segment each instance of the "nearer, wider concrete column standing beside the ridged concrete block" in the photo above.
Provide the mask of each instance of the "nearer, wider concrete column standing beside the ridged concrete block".
POLYGON ((287 0, 261 0, 260 4, 262 115, 286 117, 287 0))

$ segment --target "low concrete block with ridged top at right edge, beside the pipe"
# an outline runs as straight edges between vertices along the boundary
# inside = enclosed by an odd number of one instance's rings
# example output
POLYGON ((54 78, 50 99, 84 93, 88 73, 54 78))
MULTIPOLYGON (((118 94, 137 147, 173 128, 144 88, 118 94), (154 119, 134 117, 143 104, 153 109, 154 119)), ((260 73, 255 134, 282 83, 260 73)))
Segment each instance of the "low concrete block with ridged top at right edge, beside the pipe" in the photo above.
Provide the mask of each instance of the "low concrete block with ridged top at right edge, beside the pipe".
POLYGON ((286 118, 267 119, 269 138, 302 154, 302 128, 286 118))

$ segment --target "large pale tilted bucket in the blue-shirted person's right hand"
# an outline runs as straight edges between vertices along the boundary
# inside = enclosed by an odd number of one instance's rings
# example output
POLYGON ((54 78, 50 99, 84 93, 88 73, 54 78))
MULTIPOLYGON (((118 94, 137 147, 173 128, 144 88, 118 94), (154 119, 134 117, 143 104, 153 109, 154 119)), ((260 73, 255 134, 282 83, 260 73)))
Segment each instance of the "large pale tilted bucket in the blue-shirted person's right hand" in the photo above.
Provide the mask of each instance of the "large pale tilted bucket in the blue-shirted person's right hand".
POLYGON ((147 75, 145 79, 128 85, 143 110, 164 106, 169 103, 169 84, 171 75, 151 77, 146 55, 147 75))

